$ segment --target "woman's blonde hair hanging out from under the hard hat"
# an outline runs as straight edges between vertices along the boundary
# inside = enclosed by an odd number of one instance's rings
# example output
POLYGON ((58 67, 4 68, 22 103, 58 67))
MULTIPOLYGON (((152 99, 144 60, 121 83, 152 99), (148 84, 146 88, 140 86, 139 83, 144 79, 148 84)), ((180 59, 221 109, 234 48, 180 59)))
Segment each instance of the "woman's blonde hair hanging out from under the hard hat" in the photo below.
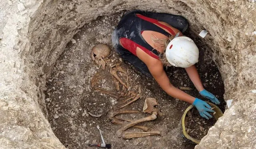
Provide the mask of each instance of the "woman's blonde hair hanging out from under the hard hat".
MULTIPOLYGON (((162 64, 164 65, 164 67, 170 67, 172 66, 168 60, 166 59, 165 56, 165 51, 166 51, 166 47, 168 45, 168 43, 174 39, 174 35, 170 35, 168 38, 164 38, 164 39, 159 39, 158 37, 156 37, 155 35, 153 35, 155 38, 153 38, 152 36, 150 37, 151 40, 153 41, 153 43, 155 43, 156 45, 158 45, 159 47, 162 47, 164 49, 164 51, 162 53, 159 53, 159 59, 162 61, 162 64)), ((153 49, 156 50, 156 49, 153 49)))

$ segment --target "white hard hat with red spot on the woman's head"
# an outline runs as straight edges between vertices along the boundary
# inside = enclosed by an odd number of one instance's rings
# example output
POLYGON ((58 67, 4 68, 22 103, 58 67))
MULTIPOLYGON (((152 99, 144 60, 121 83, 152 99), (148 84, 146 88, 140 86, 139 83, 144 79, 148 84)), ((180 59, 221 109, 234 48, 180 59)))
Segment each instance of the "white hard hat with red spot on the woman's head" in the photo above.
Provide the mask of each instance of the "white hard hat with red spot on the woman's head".
POLYGON ((176 37, 166 47, 166 58, 175 67, 187 68, 198 62, 198 47, 189 37, 176 37))

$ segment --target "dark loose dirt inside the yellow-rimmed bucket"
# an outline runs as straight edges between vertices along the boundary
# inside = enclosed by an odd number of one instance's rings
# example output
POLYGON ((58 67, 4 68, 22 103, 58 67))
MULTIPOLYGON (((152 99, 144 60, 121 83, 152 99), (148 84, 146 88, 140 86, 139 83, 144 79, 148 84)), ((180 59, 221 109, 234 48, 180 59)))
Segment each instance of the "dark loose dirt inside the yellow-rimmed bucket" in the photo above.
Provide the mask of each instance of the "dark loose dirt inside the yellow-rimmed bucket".
POLYGON ((185 117, 185 127, 188 135, 198 140, 201 140, 207 134, 209 128, 215 123, 216 120, 214 118, 210 118, 209 120, 202 118, 196 108, 188 111, 185 117))

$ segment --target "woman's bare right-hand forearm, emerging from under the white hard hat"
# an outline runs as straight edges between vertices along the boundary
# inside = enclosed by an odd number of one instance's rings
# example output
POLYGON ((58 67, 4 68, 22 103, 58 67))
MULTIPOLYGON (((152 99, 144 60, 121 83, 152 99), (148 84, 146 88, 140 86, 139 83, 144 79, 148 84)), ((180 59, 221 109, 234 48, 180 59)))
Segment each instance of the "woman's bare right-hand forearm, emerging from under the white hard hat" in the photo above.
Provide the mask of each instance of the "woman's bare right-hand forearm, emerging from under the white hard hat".
POLYGON ((196 70, 195 65, 185 68, 185 70, 188 73, 188 76, 189 76, 190 80, 193 82, 194 86, 196 86, 196 89, 198 90, 198 92, 204 90, 204 87, 202 85, 202 82, 200 80, 200 77, 196 70))

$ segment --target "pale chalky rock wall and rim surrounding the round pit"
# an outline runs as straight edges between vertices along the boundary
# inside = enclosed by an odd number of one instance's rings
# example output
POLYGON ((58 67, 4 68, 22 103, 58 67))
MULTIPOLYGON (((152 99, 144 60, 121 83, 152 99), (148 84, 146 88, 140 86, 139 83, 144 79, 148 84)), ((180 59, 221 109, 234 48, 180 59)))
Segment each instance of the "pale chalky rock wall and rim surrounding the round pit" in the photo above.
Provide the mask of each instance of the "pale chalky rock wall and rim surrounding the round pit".
POLYGON ((84 24, 133 9, 182 15, 194 38, 202 29, 209 32, 202 42, 221 73, 224 99, 233 102, 196 148, 255 148, 254 1, 14 0, 1 6, 2 148, 65 148, 46 120, 46 78, 84 24))

